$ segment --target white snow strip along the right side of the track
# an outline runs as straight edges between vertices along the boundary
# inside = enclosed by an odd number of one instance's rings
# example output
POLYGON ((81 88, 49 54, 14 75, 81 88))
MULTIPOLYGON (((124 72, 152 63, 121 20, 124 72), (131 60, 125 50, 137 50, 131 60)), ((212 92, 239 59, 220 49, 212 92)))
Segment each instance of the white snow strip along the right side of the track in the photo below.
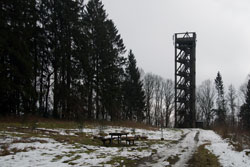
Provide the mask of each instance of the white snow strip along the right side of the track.
POLYGON ((218 156, 219 162, 225 167, 250 167, 250 155, 246 155, 246 151, 234 151, 226 140, 223 140, 219 135, 211 130, 200 130, 199 144, 211 143, 206 145, 206 148, 213 154, 218 156))

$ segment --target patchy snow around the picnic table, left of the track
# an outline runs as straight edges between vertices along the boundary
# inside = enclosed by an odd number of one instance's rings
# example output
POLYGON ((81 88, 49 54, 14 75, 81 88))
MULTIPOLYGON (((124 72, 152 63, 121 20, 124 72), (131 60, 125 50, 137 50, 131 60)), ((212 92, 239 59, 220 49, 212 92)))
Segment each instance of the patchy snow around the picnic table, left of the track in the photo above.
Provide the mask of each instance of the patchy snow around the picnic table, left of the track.
MULTIPOLYGON (((20 151, 11 153, 10 155, 0 156, 0 167, 7 166, 119 166, 119 162, 112 162, 114 157, 124 157, 130 160, 139 160, 143 157, 152 155, 153 150, 158 146, 164 146, 160 142, 162 137, 161 131, 121 128, 121 127, 104 127, 104 128, 84 128, 82 132, 90 136, 97 136, 100 132, 129 132, 129 136, 141 135, 147 136, 147 141, 136 141, 135 146, 130 147, 105 147, 93 146, 83 144, 67 144, 60 143, 48 136, 32 137, 29 142, 24 142, 21 137, 24 133, 2 131, 0 132, 0 146, 8 145, 8 150, 14 148, 20 151), (132 135, 133 134, 133 135, 132 135), (151 143, 152 142, 152 143, 151 143)), ((60 135, 74 136, 79 132, 78 129, 64 130, 64 129, 39 129, 48 130, 49 132, 56 132, 60 135), (69 132, 70 131, 70 132, 69 132)), ((178 141, 183 134, 182 130, 163 130, 163 137, 167 140, 178 141)), ((117 161, 117 160, 116 160, 117 161)), ((121 163, 123 159, 121 158, 121 163)))

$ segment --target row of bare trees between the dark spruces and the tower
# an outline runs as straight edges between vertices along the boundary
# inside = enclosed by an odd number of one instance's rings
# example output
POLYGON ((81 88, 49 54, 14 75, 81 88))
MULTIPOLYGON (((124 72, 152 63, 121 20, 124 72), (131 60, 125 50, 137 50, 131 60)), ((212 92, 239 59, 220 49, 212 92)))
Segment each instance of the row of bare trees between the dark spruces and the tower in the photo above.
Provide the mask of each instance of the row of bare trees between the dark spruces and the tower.
POLYGON ((174 82, 152 73, 147 73, 143 78, 145 122, 155 126, 173 126, 174 82))

